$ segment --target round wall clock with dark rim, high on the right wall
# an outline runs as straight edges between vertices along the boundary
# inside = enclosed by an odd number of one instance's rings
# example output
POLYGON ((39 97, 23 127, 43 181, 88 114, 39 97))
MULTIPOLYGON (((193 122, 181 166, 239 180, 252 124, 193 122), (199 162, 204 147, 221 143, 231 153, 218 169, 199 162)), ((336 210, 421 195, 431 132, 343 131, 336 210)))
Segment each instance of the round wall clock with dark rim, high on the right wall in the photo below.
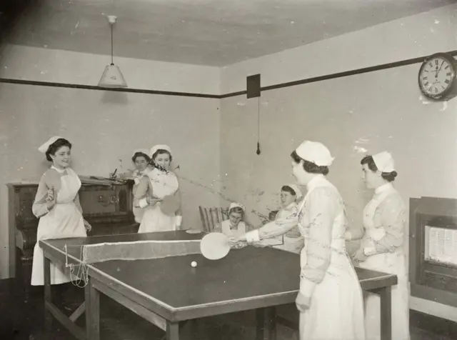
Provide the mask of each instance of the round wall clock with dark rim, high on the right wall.
POLYGON ((419 70, 419 88, 428 99, 451 99, 457 94, 456 74, 457 61, 451 54, 432 54, 419 70))

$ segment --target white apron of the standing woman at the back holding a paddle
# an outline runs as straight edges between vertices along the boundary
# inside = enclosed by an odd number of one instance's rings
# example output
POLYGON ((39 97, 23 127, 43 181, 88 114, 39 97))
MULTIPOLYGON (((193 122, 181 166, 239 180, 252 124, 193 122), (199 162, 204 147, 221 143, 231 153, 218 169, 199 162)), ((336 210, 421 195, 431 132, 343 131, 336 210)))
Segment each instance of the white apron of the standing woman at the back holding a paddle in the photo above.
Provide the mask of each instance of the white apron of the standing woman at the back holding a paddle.
MULTIPOLYGON (((165 173, 159 169, 154 169, 147 174, 152 192, 158 199, 165 196, 174 195, 179 189, 178 179, 171 171, 165 173)), ((160 202, 144 208, 143 218, 138 229, 139 233, 151 233, 156 231, 176 230, 175 216, 168 216, 160 209, 160 202)))

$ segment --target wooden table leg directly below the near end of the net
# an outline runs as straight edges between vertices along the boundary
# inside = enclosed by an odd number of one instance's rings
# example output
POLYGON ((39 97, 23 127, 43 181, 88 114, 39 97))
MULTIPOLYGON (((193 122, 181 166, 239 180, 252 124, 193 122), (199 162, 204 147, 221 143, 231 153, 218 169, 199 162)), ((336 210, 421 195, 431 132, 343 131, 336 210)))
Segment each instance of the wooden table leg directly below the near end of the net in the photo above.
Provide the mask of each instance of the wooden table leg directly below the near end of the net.
POLYGON ((84 293, 86 295, 87 340, 100 340, 100 292, 94 288, 91 277, 89 277, 84 293))

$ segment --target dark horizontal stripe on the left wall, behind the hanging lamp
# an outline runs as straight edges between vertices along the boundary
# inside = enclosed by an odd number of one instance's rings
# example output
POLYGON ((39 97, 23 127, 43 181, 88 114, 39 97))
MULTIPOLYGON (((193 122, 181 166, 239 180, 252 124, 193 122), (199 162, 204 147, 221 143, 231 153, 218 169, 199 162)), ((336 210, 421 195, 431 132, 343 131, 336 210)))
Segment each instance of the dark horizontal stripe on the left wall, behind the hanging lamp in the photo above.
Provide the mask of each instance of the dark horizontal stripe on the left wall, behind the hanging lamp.
POLYGON ((0 78, 0 83, 8 84, 23 84, 23 85, 35 85, 35 86, 50 86, 50 87, 65 87, 67 89, 84 89, 84 90, 98 90, 98 91, 115 91, 115 92, 129 92, 134 94, 161 94, 164 96, 185 96, 185 97, 199 97, 199 98, 212 98, 220 99, 219 94, 193 94, 188 92, 173 92, 173 91, 155 91, 155 90, 144 90, 144 89, 106 89, 99 86, 91 85, 79 85, 79 84, 64 84, 64 83, 52 83, 49 81, 32 81, 32 80, 21 80, 21 79, 5 79, 0 78))

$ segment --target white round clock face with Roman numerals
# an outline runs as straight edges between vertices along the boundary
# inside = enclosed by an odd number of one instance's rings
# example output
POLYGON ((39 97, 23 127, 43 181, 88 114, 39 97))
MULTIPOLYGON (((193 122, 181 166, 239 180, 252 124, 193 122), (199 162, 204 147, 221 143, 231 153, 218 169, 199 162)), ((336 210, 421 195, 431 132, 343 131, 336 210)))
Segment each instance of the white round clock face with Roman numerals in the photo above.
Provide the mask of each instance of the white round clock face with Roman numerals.
POLYGON ((456 74, 448 59, 437 56, 421 67, 419 84, 424 94, 438 97, 452 86, 456 74))

